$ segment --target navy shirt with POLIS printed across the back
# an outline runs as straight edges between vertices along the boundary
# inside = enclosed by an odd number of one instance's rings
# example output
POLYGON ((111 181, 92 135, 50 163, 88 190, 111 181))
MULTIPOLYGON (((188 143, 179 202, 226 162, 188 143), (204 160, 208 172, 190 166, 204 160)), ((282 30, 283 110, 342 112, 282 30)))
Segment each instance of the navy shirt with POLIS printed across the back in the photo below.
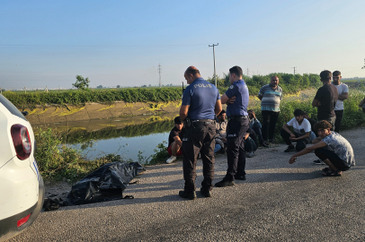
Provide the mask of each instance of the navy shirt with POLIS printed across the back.
POLYGON ((214 119, 217 99, 220 95, 216 86, 198 77, 183 91, 182 105, 190 105, 188 116, 192 120, 214 119))

